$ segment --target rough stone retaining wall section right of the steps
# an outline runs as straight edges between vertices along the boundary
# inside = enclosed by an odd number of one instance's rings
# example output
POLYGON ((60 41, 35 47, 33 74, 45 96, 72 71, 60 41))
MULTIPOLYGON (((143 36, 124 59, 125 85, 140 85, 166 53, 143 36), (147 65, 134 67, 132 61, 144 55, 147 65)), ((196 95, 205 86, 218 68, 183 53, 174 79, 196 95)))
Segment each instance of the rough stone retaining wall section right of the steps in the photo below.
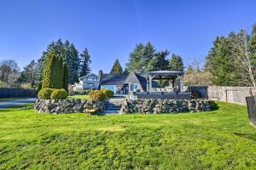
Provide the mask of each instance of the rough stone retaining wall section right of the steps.
POLYGON ((211 111, 212 101, 207 99, 135 99, 121 102, 121 114, 178 113, 211 111))

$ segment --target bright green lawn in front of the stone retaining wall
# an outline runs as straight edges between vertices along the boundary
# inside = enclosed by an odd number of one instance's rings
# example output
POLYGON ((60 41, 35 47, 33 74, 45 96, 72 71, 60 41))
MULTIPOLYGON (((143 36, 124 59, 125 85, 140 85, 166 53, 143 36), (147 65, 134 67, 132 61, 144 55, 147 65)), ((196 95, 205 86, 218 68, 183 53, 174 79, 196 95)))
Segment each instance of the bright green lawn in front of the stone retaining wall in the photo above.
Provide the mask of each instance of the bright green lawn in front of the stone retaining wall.
POLYGON ((245 106, 175 115, 49 115, 0 110, 0 168, 254 169, 245 106))

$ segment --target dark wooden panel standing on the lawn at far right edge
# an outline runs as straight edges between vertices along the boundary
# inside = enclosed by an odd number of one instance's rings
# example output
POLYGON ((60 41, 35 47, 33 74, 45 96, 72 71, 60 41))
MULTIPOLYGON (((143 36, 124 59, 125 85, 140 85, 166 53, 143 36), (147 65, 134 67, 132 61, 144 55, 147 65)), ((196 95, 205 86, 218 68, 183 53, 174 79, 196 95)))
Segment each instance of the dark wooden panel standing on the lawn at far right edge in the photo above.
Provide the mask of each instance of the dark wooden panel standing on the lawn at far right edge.
POLYGON ((249 123, 256 127, 256 96, 246 97, 249 123))

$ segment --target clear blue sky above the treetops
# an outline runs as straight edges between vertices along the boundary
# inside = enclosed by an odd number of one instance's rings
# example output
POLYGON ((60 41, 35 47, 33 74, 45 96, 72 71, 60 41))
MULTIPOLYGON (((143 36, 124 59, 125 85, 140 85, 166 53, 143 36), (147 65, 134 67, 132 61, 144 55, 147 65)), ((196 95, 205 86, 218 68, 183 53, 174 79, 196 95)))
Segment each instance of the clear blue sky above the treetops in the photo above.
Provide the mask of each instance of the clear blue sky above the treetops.
POLYGON ((49 42, 89 48, 92 71, 125 66, 139 42, 183 57, 204 57, 218 35, 256 23, 256 1, 246 0, 0 0, 0 60, 20 67, 38 59, 49 42))

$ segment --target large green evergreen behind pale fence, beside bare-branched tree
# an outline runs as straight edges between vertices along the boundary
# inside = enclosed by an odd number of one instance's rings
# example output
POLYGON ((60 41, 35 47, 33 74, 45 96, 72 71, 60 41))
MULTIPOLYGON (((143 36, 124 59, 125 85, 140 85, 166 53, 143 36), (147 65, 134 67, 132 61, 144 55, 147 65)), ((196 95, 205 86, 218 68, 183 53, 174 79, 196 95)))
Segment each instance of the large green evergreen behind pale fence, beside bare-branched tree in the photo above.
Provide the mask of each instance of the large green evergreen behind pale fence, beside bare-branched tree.
MULTIPOLYGON (((212 73, 212 83, 218 86, 245 86, 246 80, 241 77, 234 65, 234 44, 240 42, 239 34, 230 32, 228 37, 217 37, 207 55, 206 71, 212 73)), ((236 55, 236 54, 235 54, 236 55)))

